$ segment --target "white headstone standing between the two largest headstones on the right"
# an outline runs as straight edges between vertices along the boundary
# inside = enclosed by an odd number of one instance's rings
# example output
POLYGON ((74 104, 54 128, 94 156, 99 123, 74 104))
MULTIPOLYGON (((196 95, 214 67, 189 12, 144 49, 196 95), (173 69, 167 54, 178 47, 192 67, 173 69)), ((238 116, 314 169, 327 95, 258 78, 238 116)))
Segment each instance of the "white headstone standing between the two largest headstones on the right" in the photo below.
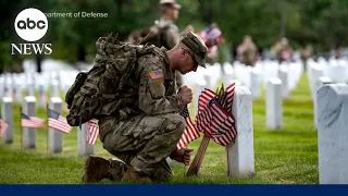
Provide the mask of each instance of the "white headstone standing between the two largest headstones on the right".
POLYGON ((282 81, 277 77, 271 77, 268 82, 265 113, 269 130, 275 130, 283 126, 282 81))

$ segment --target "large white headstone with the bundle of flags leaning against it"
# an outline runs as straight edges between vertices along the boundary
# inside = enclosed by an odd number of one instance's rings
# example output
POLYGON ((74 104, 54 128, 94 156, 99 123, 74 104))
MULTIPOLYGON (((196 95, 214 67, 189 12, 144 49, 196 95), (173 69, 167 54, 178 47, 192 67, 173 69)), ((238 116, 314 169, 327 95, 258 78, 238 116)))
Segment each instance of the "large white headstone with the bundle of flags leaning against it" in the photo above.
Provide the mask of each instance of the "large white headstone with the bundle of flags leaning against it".
POLYGON ((254 173, 252 96, 246 86, 236 86, 232 110, 237 138, 226 146, 227 176, 250 176, 254 173))

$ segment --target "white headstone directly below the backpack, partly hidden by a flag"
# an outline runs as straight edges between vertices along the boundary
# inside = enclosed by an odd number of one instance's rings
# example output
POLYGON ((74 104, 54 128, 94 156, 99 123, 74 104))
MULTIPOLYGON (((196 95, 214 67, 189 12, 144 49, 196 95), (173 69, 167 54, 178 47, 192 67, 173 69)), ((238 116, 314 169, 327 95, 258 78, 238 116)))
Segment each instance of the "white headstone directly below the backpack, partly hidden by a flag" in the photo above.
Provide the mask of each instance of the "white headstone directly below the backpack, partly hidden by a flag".
POLYGON ((84 123, 80 128, 78 127, 77 139, 79 157, 94 155, 94 145, 87 143, 87 123, 84 123))

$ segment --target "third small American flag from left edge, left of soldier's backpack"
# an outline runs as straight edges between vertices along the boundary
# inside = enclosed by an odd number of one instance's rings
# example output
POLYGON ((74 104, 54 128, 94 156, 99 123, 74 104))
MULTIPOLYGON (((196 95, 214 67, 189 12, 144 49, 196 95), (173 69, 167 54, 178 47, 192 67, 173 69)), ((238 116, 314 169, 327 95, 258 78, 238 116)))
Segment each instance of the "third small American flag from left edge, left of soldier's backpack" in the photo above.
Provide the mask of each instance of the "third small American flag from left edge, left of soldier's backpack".
POLYGON ((48 109, 48 126, 64 133, 72 131, 72 126, 67 124, 66 118, 51 109, 48 109))

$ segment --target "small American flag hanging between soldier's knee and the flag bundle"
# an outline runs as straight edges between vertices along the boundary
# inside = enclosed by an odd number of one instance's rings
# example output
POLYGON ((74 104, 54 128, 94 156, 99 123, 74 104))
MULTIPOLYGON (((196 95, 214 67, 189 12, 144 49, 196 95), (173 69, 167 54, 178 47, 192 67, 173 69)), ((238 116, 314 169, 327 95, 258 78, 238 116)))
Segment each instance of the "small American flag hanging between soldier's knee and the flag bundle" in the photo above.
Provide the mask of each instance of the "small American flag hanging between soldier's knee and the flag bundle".
POLYGON ((185 119, 186 128, 176 145, 177 149, 186 147, 188 143, 197 139, 200 136, 199 132, 196 130, 195 125, 192 124, 187 107, 184 108, 181 115, 185 119))

